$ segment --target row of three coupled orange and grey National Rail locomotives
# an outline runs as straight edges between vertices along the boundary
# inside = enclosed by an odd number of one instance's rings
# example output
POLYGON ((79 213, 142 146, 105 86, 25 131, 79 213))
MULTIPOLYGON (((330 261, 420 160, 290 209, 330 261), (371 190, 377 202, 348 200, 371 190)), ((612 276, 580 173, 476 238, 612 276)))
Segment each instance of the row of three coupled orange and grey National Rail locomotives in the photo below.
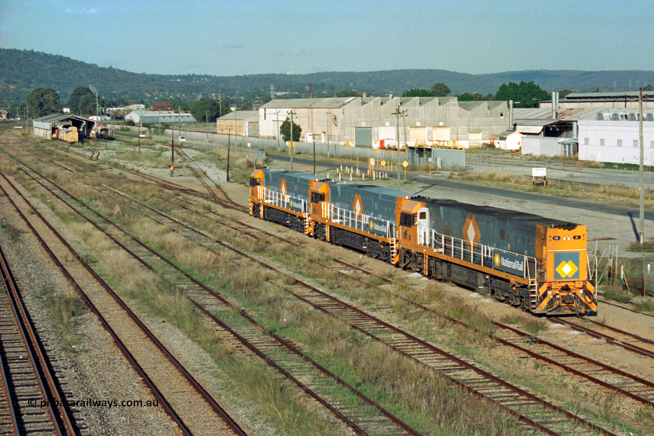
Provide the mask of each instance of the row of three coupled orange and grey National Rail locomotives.
POLYGON ((532 314, 597 314, 583 225, 270 169, 250 213, 532 314))

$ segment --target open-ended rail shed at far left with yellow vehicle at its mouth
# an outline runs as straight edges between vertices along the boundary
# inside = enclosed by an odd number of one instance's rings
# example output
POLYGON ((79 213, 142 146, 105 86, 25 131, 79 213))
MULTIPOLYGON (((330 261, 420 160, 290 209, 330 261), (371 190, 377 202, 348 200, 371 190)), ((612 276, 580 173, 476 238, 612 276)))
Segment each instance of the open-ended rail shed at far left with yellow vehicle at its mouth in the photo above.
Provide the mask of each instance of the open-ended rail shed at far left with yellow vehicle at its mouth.
POLYGON ((58 113, 35 118, 32 121, 34 134, 46 139, 77 142, 87 137, 95 137, 96 122, 80 115, 58 113))

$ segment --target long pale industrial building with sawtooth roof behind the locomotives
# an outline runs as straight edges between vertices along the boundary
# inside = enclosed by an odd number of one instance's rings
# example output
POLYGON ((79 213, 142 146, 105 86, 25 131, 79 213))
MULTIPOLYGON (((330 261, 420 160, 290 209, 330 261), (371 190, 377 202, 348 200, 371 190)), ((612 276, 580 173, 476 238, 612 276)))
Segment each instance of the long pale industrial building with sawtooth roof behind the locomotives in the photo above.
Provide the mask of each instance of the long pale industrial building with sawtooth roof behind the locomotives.
POLYGON ((259 109, 261 136, 276 137, 291 112, 305 141, 368 148, 478 147, 509 128, 506 101, 390 94, 269 101, 259 109))

